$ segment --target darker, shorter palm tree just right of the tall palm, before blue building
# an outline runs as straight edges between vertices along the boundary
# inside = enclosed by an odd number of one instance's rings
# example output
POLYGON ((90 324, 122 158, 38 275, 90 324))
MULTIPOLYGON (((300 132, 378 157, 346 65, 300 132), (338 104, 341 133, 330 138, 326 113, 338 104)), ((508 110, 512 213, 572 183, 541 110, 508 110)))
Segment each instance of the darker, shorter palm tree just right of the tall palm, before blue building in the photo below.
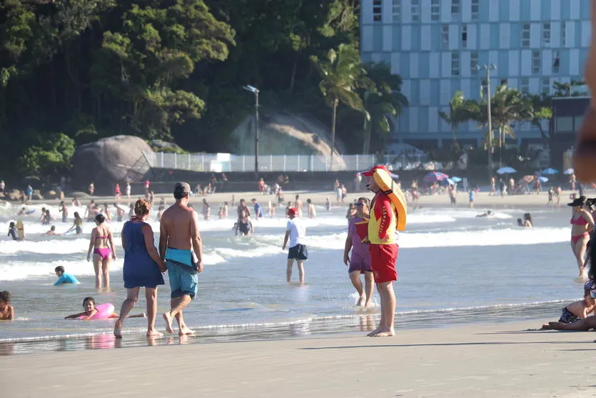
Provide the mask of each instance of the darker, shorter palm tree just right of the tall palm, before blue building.
POLYGON ((371 132, 375 131, 384 139, 391 130, 389 116, 399 116, 403 108, 408 106, 408 99, 400 91, 401 76, 391 74, 387 64, 370 63, 364 68, 368 79, 363 102, 370 118, 366 115, 364 118, 363 154, 368 154, 371 132))

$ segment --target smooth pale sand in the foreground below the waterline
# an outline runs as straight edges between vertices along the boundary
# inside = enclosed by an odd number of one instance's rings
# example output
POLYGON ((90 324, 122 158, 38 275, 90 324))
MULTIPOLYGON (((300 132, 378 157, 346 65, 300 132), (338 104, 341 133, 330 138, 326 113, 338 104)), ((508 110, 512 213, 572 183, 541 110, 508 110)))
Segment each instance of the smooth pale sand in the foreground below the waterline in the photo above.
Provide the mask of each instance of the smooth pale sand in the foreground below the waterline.
MULTIPOLYGON (((591 332, 546 319, 4 357, 6 397, 594 397, 591 332)), ((397 319, 399 322, 399 319, 397 319)), ((186 344, 187 343, 187 344, 186 344)))

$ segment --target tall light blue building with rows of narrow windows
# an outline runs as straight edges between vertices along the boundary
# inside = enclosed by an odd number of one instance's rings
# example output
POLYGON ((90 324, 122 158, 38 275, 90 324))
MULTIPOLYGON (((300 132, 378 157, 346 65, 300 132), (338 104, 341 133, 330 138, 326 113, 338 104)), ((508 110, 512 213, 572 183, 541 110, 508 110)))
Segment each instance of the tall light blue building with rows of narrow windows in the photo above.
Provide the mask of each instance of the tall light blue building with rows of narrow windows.
MULTIPOLYGON (((591 37, 590 0, 361 0, 361 57, 389 64, 410 100, 393 139, 426 149, 450 144, 438 111, 455 91, 480 97, 486 72, 477 66, 497 66, 493 93, 499 84, 552 93, 553 81, 582 79, 591 37)), ((517 144, 541 141, 530 124, 515 133, 517 144)), ((481 136, 474 122, 458 129, 461 144, 481 136)))

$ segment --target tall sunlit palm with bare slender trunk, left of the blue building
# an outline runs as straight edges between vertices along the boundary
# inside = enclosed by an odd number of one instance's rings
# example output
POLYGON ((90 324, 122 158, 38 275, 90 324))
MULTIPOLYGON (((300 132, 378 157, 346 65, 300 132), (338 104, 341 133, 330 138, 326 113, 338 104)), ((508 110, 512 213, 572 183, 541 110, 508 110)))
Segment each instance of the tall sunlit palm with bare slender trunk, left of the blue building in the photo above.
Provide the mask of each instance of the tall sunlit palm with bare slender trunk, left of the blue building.
POLYGON ((333 152, 335 152, 335 122, 337 120, 340 103, 350 106, 366 114, 360 96, 354 91, 361 85, 365 71, 360 66, 360 54, 353 46, 340 44, 338 51, 330 49, 325 60, 316 56, 311 57, 319 71, 321 81, 319 89, 325 97, 325 104, 333 109, 333 124, 331 129, 331 161, 333 170, 333 152))

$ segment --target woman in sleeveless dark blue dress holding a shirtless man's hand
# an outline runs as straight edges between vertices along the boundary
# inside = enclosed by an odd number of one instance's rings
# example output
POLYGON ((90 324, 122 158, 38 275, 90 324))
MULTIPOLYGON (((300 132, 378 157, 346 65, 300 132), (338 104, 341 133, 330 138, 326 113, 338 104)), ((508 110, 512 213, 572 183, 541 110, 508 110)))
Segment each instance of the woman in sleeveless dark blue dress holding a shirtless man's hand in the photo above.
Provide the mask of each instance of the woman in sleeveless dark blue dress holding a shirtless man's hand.
POLYGON ((145 287, 147 299, 147 336, 162 335, 155 329, 155 317, 157 287, 163 284, 161 273, 166 272, 166 264, 163 264, 155 247, 153 229, 145 222, 149 216, 149 210, 151 210, 151 204, 145 199, 138 199, 134 205, 135 215, 122 227, 123 278, 124 287, 126 287, 126 300, 122 303, 120 317, 113 328, 113 334, 117 338, 122 337, 122 322, 135 306, 141 287, 145 287))

